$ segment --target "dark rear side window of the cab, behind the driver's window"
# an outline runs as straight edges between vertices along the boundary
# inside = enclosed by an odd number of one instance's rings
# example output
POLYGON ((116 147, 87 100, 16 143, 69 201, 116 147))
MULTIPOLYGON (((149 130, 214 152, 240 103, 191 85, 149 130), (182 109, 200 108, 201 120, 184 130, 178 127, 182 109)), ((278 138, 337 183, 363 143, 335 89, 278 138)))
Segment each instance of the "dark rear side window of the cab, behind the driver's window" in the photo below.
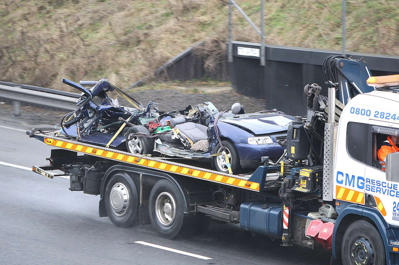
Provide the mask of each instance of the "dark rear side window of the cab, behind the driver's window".
MULTIPOLYGON (((366 123, 349 122, 346 129, 346 146, 349 155, 363 164, 371 154, 369 146, 369 125, 366 123)), ((371 162, 371 161, 370 161, 371 162)))

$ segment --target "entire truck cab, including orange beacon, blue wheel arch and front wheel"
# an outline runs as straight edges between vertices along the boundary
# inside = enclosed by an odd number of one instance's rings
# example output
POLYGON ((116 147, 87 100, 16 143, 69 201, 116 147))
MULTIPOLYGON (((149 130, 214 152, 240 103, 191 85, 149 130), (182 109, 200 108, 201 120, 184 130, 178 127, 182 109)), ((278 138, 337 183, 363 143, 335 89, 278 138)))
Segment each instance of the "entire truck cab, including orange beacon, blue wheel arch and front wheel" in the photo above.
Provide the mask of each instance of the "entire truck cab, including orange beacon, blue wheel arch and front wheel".
MULTIPOLYGON (((376 85, 369 82, 376 78, 386 77, 370 77, 367 83, 376 85)), ((399 153, 380 161, 378 150, 392 146, 387 137, 399 135, 399 90, 386 87, 387 82, 377 85, 350 99, 336 130, 333 198, 338 218, 332 244, 341 243, 333 255, 344 264, 398 264, 399 153), (383 250, 376 247, 382 242, 386 261, 376 253, 383 250)))

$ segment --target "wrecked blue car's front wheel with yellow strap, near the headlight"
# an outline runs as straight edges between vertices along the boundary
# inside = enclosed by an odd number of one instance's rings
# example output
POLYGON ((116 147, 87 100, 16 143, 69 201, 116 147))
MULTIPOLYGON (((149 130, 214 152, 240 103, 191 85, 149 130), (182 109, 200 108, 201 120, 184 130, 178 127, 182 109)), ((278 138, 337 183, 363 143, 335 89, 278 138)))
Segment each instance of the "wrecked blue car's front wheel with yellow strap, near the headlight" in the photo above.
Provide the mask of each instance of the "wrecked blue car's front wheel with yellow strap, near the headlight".
MULTIPOLYGON (((231 171, 234 173, 237 173, 240 169, 240 157, 238 156, 238 152, 234 147, 234 144, 230 142, 229 140, 223 140, 222 145, 227 148, 226 154, 227 157, 230 160, 230 167, 231 171)), ((220 144, 217 144, 216 148, 216 153, 222 152, 222 148, 220 144)), ((227 168, 227 161, 226 157, 223 155, 220 156, 215 156, 213 163, 215 164, 216 170, 219 172, 223 173, 229 173, 229 169, 227 168)))

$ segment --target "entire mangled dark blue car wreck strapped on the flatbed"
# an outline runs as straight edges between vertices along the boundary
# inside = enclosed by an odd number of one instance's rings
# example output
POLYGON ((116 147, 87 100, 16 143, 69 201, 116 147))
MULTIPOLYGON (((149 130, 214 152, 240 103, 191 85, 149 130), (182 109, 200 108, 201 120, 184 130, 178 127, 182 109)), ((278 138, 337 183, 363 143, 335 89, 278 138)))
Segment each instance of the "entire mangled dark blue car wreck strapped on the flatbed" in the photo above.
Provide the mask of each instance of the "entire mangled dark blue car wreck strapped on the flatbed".
POLYGON ((245 113, 238 102, 229 111, 208 101, 165 112, 153 101, 144 107, 107 79, 63 83, 82 95, 77 109, 63 117, 58 136, 140 156, 210 162, 224 173, 256 169, 265 156, 270 164, 277 161, 294 119, 275 109, 245 113), (112 91, 133 107, 120 106, 107 95, 112 91))

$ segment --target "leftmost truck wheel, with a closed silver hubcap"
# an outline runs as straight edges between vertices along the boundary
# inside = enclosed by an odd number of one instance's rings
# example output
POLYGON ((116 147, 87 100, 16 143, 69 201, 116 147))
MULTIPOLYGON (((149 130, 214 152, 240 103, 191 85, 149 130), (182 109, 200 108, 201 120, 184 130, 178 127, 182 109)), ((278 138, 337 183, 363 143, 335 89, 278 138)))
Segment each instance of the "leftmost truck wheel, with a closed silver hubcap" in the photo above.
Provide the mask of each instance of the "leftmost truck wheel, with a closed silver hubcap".
POLYGON ((129 227, 139 224, 138 192, 136 183, 127 173, 116 173, 105 187, 105 209, 116 226, 129 227))

